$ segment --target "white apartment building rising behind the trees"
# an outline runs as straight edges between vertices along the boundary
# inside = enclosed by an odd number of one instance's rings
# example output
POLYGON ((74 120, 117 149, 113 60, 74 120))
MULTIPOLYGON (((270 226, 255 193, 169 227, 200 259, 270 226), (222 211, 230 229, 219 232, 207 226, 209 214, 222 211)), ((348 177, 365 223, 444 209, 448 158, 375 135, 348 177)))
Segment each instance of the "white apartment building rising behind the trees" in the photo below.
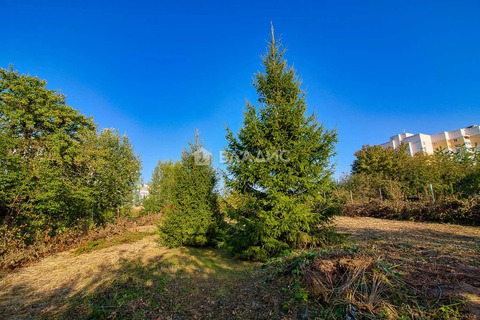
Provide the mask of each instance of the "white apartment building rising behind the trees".
POLYGON ((458 146, 474 147, 480 145, 480 127, 469 126, 453 131, 444 131, 433 135, 423 133, 401 133, 390 137, 390 141, 380 144, 382 148, 396 149, 401 144, 408 145, 408 153, 414 155, 419 152, 432 154, 435 150, 444 149, 455 151, 458 146))

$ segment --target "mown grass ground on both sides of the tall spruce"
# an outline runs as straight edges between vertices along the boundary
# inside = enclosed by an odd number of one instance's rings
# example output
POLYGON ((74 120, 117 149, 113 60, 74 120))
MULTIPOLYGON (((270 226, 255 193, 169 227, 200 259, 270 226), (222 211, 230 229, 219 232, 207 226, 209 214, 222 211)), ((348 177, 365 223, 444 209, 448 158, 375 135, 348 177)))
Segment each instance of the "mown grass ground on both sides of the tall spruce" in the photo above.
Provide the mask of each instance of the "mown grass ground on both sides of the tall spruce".
MULTIPOLYGON (((479 228, 347 217, 336 223, 348 235, 342 250, 385 261, 412 295, 433 303, 460 298, 439 305, 439 317, 480 318, 479 228)), ((152 230, 142 231, 3 274, 0 318, 298 318, 285 308, 291 277, 272 280, 271 269, 220 250, 167 249, 152 230)))

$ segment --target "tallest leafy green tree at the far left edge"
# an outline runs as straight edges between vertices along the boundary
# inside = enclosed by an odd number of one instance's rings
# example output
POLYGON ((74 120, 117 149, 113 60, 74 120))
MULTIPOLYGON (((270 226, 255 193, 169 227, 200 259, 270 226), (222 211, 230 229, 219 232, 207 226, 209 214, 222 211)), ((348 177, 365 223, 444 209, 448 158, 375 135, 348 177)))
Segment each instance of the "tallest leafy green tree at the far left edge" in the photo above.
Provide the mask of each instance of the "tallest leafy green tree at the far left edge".
POLYGON ((88 172, 81 145, 95 126, 46 89, 46 81, 0 69, 1 218, 53 228, 86 211, 88 172))

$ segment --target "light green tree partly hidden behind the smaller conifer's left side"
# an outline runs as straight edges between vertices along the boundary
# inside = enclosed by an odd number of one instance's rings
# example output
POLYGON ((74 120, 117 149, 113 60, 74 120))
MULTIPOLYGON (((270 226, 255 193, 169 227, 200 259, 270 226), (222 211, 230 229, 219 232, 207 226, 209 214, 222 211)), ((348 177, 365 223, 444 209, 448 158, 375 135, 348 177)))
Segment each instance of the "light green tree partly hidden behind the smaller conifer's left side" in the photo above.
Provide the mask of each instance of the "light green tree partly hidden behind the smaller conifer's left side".
POLYGON ((160 212, 172 203, 175 172, 180 166, 179 162, 161 160, 158 162, 153 171, 149 195, 143 200, 144 211, 160 212))

